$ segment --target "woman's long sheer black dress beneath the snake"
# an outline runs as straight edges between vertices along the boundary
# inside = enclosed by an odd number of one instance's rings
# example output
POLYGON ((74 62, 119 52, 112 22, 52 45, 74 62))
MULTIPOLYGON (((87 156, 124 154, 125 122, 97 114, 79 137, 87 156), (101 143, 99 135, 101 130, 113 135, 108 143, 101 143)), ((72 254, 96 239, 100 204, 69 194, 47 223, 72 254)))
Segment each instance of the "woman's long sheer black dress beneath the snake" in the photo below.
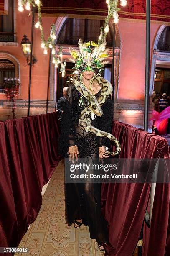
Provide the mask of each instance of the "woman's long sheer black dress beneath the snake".
MULTIPOLYGON (((99 97, 100 93, 101 90, 95 97, 99 97)), ((69 146, 77 145, 79 157, 99 158, 98 147, 109 147, 109 140, 82 130, 79 125, 79 118, 81 111, 88 106, 88 100, 83 97, 83 105, 79 106, 80 96, 74 84, 70 84, 61 120, 60 152, 65 157, 69 157, 66 155, 69 146)), ((91 120, 91 124, 102 131, 111 132, 113 110, 110 97, 107 98, 101 108, 104 114, 101 117, 96 116, 94 120, 91 120)), ((98 242, 108 243, 107 220, 101 213, 100 183, 65 183, 65 211, 68 226, 71 226, 74 220, 82 219, 84 225, 89 226, 90 238, 94 238, 98 242)))

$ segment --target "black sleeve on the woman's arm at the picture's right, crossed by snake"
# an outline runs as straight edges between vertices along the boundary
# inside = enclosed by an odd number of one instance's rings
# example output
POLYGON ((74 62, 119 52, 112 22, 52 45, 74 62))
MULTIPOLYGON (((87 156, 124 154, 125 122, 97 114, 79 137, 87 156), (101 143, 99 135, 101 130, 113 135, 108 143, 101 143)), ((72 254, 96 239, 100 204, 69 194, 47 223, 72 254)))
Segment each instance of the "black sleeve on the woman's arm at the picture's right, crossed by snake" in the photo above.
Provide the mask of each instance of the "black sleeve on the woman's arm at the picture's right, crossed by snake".
MULTIPOLYGON (((103 110, 103 115, 101 117, 98 117, 99 130, 112 133, 113 106, 110 96, 107 98, 101 108, 103 110)), ((108 146, 109 142, 110 140, 108 138, 99 136, 97 137, 98 147, 108 146)))

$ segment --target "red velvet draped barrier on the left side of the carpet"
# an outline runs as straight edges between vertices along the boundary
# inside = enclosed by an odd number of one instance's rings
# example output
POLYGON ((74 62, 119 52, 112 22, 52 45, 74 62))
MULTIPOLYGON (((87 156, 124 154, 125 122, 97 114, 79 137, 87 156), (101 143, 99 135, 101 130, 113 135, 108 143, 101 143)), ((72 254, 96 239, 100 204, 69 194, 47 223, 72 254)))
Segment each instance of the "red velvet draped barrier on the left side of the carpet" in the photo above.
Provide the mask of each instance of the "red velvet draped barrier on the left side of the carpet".
POLYGON ((0 247, 16 247, 60 160, 56 112, 0 122, 0 247))

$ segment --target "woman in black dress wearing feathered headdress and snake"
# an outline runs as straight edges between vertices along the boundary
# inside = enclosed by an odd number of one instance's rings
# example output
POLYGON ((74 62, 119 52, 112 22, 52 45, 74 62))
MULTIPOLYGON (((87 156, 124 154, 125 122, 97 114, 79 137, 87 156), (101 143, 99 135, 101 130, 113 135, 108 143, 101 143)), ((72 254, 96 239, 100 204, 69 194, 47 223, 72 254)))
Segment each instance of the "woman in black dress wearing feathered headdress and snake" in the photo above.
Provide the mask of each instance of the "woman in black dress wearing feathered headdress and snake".
MULTIPOLYGON (((89 161, 109 157, 105 148, 109 146, 109 140, 106 136, 101 137, 100 133, 96 136, 96 132, 105 131, 109 134, 113 115, 112 101, 108 96, 112 92, 112 87, 108 81, 98 76, 103 65, 102 61, 107 56, 105 47, 93 42, 83 44, 79 40, 79 49, 80 52, 75 49, 70 50, 76 62, 76 69, 79 70, 79 76, 73 78, 73 83, 70 84, 67 92, 60 136, 61 151, 73 162, 78 157, 88 158, 89 161), (95 46, 93 50, 91 46, 95 46), (103 99, 104 96, 105 101, 100 108, 99 97, 103 99), (93 102, 95 102, 94 106, 93 102), (89 119, 84 118, 83 122, 80 122, 84 110, 89 119), (101 116, 95 114, 98 110, 101 116), (89 132, 90 129, 86 130, 88 124, 89 127, 94 128, 93 130, 96 129, 94 134, 89 132)), ((96 239, 99 250, 104 251, 102 243, 108 243, 109 239, 107 220, 101 212, 101 184, 88 182, 65 184, 65 209, 66 223, 69 226, 74 223, 75 228, 79 228, 82 223, 88 225, 90 238, 96 239)))

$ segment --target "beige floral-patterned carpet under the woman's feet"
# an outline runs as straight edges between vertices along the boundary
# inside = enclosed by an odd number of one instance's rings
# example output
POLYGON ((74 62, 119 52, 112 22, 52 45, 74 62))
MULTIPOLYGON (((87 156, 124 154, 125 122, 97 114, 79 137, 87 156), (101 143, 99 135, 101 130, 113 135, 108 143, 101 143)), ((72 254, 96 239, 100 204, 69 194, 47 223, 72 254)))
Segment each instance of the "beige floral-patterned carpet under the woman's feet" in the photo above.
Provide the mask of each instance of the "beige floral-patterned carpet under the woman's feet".
POLYGON ((41 210, 23 237, 18 248, 28 248, 22 256, 102 256, 96 241, 89 238, 84 225, 76 229, 65 224, 63 160, 43 187, 41 210), (46 190, 45 190, 46 189, 46 190), (44 193, 45 191, 45 193, 44 193))

